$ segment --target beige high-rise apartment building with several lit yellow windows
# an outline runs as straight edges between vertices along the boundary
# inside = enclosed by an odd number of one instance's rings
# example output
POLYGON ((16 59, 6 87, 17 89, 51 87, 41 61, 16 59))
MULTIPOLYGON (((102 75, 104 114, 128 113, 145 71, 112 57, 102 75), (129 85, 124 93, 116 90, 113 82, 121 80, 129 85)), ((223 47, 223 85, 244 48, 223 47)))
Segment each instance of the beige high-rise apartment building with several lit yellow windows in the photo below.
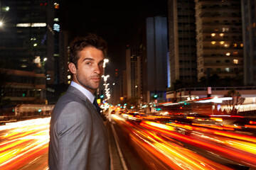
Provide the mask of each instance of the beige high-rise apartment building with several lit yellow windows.
POLYGON ((218 74, 220 79, 243 77, 240 0, 196 0, 198 80, 218 74))

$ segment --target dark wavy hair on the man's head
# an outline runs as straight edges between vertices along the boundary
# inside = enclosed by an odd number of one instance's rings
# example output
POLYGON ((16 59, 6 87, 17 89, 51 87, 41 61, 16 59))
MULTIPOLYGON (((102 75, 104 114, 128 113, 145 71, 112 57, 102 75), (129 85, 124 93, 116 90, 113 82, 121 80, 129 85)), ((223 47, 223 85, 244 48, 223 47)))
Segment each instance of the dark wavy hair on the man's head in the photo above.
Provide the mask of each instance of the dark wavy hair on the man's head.
POLYGON ((85 47, 95 47, 101 50, 105 57, 107 56, 107 42, 100 36, 89 33, 85 37, 77 37, 70 42, 70 62, 73 62, 75 67, 78 67, 78 53, 85 47))

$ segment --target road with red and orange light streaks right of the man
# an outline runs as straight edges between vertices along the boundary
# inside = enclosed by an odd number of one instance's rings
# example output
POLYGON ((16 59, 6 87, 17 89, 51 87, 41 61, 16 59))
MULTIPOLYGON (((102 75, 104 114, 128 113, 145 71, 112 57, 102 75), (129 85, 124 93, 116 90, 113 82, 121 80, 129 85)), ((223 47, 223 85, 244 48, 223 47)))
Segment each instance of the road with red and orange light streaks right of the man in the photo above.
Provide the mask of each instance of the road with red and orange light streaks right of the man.
POLYGON ((117 113, 110 115, 110 123, 128 169, 240 170, 256 166, 255 137, 250 135, 178 123, 141 122, 117 113), (192 132, 181 132, 182 126, 192 132))

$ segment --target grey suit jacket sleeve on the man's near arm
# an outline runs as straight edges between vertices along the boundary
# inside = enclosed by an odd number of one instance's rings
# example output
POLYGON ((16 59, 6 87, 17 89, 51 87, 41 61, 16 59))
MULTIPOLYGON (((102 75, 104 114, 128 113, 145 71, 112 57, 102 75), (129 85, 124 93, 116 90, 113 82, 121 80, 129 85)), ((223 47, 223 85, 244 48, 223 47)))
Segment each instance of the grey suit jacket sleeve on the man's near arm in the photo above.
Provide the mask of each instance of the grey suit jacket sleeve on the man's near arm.
POLYGON ((58 117, 55 130, 55 135, 58 135, 58 170, 87 169, 92 136, 88 108, 82 103, 68 103, 58 117))

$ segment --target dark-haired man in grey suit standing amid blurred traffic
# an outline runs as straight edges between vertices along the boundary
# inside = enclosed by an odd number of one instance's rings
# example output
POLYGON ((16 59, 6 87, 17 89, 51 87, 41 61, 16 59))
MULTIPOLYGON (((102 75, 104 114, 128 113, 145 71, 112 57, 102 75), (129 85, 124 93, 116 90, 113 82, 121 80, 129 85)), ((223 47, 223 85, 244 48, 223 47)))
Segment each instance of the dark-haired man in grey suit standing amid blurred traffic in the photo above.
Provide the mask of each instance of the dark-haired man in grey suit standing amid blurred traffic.
POLYGON ((50 170, 110 169, 107 131, 93 104, 106 53, 107 43, 97 35, 71 42, 68 68, 73 81, 50 120, 50 170))

